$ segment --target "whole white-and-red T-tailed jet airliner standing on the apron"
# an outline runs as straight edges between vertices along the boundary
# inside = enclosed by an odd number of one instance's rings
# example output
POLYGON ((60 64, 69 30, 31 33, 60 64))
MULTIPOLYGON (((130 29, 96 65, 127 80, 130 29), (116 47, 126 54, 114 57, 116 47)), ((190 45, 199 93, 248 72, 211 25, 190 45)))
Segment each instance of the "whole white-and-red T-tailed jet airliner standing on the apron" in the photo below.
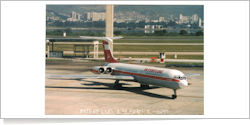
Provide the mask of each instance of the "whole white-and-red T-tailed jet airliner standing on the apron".
POLYGON ((98 75, 50 75, 50 78, 112 79, 115 80, 115 89, 122 88, 119 81, 134 81, 140 83, 140 87, 144 89, 149 88, 149 85, 170 88, 174 91, 172 99, 177 98, 176 90, 190 85, 187 81, 188 75, 176 69, 119 63, 110 50, 110 43, 113 39, 122 37, 80 37, 81 39, 102 40, 105 64, 103 66, 94 66, 91 69, 91 72, 98 75))

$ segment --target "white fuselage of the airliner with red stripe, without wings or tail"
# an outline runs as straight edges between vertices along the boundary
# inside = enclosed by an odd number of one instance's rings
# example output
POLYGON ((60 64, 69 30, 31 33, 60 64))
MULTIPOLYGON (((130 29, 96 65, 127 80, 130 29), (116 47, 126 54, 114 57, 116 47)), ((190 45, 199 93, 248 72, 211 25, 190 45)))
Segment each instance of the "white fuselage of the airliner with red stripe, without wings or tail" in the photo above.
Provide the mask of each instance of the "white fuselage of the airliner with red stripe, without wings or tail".
MULTIPOLYGON (((175 69, 157 68, 151 66, 141 66, 125 63, 107 63, 106 67, 111 67, 111 75, 133 76, 135 82, 146 85, 156 85, 171 89, 180 89, 188 86, 184 74, 175 69)), ((98 70, 95 67, 93 70, 98 70)))

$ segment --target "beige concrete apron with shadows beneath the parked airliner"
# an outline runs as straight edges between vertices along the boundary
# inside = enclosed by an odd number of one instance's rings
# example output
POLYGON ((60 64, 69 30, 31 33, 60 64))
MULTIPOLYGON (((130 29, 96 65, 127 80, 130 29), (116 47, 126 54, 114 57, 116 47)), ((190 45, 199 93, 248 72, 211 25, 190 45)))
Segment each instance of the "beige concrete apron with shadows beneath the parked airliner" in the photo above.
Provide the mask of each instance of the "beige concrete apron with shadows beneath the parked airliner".
MULTIPOLYGON (((90 75, 89 69, 101 62, 72 61, 47 63, 46 74, 90 75)), ((154 64, 151 64, 151 66, 154 64)), ((163 65, 157 64, 159 67, 163 65)), ((202 68, 178 68, 184 73, 199 73, 192 84, 177 91, 121 81, 123 89, 113 89, 114 80, 48 79, 45 83, 46 115, 202 115, 204 83, 202 68)))

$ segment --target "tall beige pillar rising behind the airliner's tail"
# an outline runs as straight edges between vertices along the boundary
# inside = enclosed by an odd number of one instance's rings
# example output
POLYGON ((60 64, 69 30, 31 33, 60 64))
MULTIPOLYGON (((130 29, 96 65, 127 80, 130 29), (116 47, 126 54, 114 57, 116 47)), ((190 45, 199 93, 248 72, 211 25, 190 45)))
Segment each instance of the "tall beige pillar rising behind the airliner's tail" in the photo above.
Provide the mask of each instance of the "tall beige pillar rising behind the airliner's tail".
MULTIPOLYGON (((114 5, 106 5, 106 37, 113 37, 114 5)), ((110 49, 113 52, 113 40, 110 43, 110 49)))

